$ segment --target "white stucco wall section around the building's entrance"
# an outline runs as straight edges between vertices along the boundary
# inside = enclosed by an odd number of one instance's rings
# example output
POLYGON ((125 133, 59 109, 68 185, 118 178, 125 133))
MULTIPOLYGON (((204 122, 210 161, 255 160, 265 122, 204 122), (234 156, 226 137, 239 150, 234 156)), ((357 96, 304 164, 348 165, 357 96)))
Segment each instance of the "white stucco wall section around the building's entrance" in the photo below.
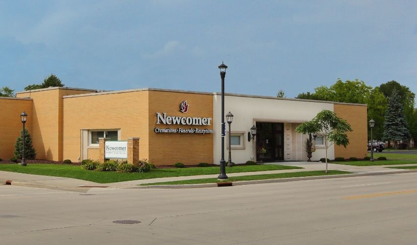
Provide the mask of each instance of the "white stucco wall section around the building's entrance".
MULTIPOLYGON (((231 131, 244 131, 245 149, 232 149, 232 161, 236 164, 245 163, 248 160, 256 160, 253 144, 247 142, 247 132, 256 122, 284 123, 284 160, 305 161, 307 153, 304 148, 306 136, 296 133, 295 127, 313 119, 321 110, 333 111, 333 103, 302 101, 274 97, 250 97, 242 95, 225 95, 224 114, 229 111, 234 115, 231 131)), ((221 94, 215 94, 213 98, 213 126, 214 126, 214 163, 220 164, 221 160, 221 94)), ((226 130, 228 125, 226 123, 226 130)), ((224 140, 224 159, 227 162, 228 150, 226 139, 224 140)), ((334 147, 328 149, 328 158, 334 159, 334 147)), ((325 149, 318 148, 313 153, 312 160, 317 161, 325 157, 325 149)))

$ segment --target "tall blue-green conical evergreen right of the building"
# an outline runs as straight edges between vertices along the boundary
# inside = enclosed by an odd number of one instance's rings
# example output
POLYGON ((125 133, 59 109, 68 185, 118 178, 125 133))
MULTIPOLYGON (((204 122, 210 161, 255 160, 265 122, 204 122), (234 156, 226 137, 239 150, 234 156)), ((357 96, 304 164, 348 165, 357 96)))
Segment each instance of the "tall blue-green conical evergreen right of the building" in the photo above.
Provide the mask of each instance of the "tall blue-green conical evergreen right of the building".
POLYGON ((405 120, 401 97, 396 89, 392 90, 391 97, 388 99, 384 128, 383 139, 393 141, 395 148, 398 148, 398 141, 408 142, 410 140, 411 134, 405 120))

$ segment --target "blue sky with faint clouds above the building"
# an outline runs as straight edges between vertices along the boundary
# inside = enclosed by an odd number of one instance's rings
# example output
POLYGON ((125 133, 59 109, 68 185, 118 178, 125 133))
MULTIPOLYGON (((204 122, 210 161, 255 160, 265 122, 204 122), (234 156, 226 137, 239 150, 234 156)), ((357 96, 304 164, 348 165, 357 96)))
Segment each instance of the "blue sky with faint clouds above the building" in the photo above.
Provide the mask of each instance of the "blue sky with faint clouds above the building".
POLYGON ((413 0, 0 0, 0 88, 68 87, 287 98, 338 78, 417 94, 413 0))

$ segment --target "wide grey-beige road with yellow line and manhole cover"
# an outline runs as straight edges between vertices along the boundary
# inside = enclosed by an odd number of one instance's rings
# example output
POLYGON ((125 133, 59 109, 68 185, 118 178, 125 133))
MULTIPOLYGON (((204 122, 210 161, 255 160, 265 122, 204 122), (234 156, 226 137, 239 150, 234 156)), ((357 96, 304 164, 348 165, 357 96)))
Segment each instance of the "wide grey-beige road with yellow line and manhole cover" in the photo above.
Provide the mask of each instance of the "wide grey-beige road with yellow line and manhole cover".
POLYGON ((417 241, 417 173, 199 189, 0 186, 0 244, 417 241), (112 221, 135 220, 138 224, 112 221))

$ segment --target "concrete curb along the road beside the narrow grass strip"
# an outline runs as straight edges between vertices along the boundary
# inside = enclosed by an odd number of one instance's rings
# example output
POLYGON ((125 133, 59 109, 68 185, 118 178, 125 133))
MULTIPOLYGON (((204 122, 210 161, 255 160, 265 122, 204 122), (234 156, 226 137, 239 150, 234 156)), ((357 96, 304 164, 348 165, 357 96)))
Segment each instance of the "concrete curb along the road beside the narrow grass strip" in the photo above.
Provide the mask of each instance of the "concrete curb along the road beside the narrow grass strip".
MULTIPOLYGON (((266 183, 277 183, 277 182, 289 182, 289 181, 311 180, 311 179, 332 179, 332 178, 360 177, 360 176, 384 175, 384 174, 408 173, 408 172, 417 172, 417 170, 400 170, 400 171, 391 171, 391 172, 347 173, 347 174, 307 176, 307 177, 294 177, 294 178, 282 178, 282 179, 245 180, 245 181, 232 182, 232 186, 266 184, 266 183)), ((186 184, 186 185, 147 185, 147 186, 129 187, 129 188, 125 188, 125 189, 183 189, 183 188, 206 188, 206 187, 218 187, 218 185, 217 185, 217 183, 186 184)))

